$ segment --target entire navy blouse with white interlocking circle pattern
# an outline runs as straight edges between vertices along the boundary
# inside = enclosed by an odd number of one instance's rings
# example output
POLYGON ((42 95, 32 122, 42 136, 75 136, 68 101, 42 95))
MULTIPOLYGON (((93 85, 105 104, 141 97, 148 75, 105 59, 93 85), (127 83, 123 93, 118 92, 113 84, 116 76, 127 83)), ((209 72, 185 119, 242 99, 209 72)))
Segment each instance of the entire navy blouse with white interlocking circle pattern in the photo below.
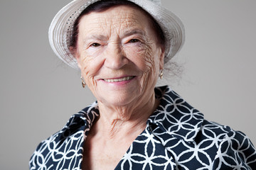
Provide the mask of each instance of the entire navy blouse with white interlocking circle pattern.
MULTIPOLYGON (((115 169, 256 169, 255 147, 245 134, 204 120, 169 86, 155 92, 159 107, 115 169)), ((97 102, 73 115, 38 145, 30 169, 81 169, 83 142, 97 116, 97 102)))

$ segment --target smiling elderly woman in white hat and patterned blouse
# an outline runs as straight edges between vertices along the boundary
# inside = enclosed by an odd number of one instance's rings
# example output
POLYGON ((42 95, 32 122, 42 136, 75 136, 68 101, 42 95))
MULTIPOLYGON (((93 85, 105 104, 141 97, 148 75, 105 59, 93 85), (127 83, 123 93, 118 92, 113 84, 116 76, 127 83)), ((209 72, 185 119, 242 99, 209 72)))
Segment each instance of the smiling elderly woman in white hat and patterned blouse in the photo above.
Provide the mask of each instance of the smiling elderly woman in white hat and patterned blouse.
POLYGON ((156 87, 184 40, 181 21, 150 0, 75 0, 50 45, 97 98, 38 145, 30 169, 255 169, 242 132, 203 119, 156 87))

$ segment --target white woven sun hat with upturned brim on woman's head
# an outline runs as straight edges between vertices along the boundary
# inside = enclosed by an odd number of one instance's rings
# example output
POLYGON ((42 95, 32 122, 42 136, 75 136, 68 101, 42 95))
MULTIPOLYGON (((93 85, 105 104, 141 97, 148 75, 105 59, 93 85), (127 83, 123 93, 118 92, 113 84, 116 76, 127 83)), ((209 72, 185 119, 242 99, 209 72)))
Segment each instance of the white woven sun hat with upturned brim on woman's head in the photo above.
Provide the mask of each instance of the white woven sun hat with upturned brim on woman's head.
MULTIPOLYGON (((49 41, 55 55, 65 64, 78 69, 78 63, 70 52, 70 41, 73 34, 73 25, 80 13, 90 4, 100 0, 74 0, 64 6, 53 18, 49 28, 49 41)), ((127 0, 141 6, 147 11, 163 30, 165 36, 164 63, 168 62, 185 40, 185 30, 181 20, 171 11, 161 6, 160 0, 127 0)))

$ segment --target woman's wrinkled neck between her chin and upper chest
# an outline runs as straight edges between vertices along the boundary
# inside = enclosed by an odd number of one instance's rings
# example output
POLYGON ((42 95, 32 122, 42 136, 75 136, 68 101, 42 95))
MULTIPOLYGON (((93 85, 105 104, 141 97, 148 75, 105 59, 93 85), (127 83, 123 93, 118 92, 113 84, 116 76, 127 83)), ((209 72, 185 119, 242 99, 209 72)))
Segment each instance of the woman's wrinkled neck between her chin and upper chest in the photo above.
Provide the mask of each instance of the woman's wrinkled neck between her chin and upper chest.
POLYGON ((140 101, 143 102, 137 101, 129 106, 118 107, 109 107, 99 103, 100 118, 93 131, 105 137, 106 140, 137 137, 146 127, 146 120, 159 105, 154 91, 147 100, 143 98, 140 101))

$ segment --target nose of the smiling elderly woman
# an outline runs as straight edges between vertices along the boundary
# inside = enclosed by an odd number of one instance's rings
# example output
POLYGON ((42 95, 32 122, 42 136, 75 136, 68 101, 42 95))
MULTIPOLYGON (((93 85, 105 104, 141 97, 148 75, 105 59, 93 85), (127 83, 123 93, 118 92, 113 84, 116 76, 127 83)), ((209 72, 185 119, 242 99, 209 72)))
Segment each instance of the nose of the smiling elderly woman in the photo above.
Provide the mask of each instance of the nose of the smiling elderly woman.
POLYGON ((124 50, 119 43, 107 45, 105 53, 105 67, 110 69, 121 69, 128 64, 129 60, 126 57, 124 50))

